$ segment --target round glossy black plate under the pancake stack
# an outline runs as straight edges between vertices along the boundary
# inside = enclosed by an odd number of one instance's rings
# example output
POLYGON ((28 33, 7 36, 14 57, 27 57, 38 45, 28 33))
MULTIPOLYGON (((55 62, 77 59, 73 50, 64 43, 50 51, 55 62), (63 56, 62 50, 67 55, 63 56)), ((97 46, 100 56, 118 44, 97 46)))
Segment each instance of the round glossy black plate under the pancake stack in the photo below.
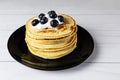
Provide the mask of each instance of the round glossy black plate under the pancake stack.
POLYGON ((32 55, 25 43, 25 26, 17 29, 8 40, 8 50, 11 56, 18 62, 40 70, 61 70, 82 63, 92 53, 94 42, 91 35, 78 26, 77 48, 67 56, 59 59, 43 59, 32 55))

